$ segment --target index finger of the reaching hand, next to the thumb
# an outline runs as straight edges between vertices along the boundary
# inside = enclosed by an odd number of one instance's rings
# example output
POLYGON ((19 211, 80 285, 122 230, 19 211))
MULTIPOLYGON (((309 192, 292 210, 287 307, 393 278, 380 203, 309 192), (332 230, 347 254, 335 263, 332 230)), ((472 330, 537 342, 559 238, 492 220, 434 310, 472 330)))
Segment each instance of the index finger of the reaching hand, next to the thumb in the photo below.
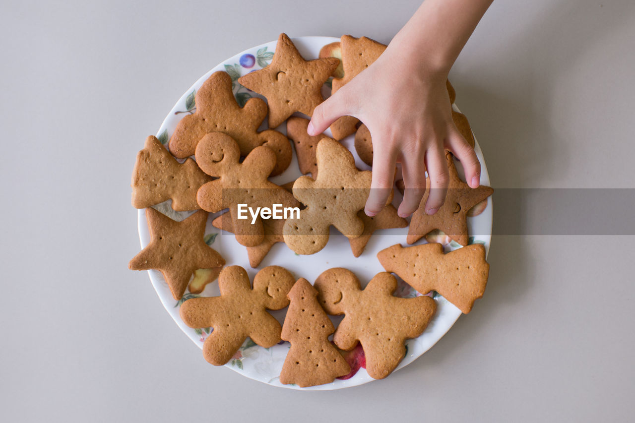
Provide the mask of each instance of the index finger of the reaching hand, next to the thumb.
POLYGON ((381 140, 373 140, 373 179, 364 208, 366 215, 370 217, 377 215, 385 207, 394 183, 397 154, 392 147, 386 148, 382 145, 385 144, 382 144, 381 140))

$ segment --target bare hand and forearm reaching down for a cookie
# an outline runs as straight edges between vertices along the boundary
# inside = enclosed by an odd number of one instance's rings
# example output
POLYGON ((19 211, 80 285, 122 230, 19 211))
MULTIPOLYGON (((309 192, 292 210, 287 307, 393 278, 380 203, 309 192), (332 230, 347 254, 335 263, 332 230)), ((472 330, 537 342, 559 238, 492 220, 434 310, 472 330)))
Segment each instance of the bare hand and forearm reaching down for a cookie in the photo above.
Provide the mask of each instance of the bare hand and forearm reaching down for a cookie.
POLYGON ((384 208, 396 163, 401 163, 406 187, 399 216, 419 207, 426 170, 431 192, 424 211, 436 213, 445 201, 449 179, 444 149, 463 164, 467 184, 478 187, 480 164, 453 123, 446 79, 491 1, 426 0, 373 64, 313 112, 309 135, 322 133, 342 116, 357 117, 368 126, 373 178, 367 215, 384 208))

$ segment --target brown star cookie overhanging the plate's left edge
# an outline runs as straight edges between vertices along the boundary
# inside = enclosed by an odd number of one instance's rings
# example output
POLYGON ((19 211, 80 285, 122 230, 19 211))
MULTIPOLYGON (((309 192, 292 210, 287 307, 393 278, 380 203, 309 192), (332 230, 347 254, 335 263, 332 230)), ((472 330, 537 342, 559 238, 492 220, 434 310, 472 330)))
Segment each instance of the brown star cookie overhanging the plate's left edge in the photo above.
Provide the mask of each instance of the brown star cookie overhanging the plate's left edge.
POLYGON ((203 241, 205 211, 199 210, 182 222, 154 208, 145 209, 145 215, 150 227, 150 243, 130 260, 128 268, 161 271, 175 300, 183 297, 194 271, 225 264, 225 259, 203 241))

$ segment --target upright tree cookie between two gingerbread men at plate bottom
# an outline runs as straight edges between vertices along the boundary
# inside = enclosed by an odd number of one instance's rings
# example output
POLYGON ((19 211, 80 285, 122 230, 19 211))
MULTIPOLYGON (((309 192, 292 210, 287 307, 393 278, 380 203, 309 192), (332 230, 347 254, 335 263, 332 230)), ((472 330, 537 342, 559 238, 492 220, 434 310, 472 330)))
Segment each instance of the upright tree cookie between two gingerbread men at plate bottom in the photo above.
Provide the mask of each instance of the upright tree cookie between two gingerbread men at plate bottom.
POLYGON ((287 297, 291 304, 281 337, 291 342, 291 348, 284 359, 280 383, 300 387, 322 385, 351 372, 351 366, 328 340, 335 328, 320 307, 315 288, 307 279, 300 278, 287 297))

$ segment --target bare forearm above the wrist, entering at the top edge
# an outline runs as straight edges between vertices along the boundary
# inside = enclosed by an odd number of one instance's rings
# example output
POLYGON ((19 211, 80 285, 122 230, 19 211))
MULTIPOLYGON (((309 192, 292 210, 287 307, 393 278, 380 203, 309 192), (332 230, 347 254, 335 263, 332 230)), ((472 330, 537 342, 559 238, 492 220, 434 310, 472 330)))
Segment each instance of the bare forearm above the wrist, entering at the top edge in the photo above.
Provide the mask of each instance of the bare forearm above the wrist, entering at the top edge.
POLYGON ((415 60, 426 73, 447 76, 492 1, 425 0, 387 51, 406 61, 415 60))

